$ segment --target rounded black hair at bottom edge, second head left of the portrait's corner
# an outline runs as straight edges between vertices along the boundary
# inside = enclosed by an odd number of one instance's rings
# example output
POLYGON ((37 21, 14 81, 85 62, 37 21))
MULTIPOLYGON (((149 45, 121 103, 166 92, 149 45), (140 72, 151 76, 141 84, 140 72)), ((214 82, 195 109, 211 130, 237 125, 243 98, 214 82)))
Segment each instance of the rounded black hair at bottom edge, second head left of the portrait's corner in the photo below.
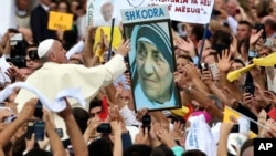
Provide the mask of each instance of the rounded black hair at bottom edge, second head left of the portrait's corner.
POLYGON ((89 156, 113 156, 113 146, 109 141, 99 138, 88 145, 89 156))

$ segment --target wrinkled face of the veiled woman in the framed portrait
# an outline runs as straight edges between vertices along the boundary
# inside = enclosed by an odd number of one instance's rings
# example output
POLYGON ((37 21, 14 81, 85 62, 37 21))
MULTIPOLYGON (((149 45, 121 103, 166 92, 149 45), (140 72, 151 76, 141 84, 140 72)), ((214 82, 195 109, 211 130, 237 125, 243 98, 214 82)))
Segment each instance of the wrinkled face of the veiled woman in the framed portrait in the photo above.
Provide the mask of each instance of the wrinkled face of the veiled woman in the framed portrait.
POLYGON ((155 45, 146 41, 139 41, 136 63, 145 95, 159 103, 169 101, 172 72, 162 53, 155 45))

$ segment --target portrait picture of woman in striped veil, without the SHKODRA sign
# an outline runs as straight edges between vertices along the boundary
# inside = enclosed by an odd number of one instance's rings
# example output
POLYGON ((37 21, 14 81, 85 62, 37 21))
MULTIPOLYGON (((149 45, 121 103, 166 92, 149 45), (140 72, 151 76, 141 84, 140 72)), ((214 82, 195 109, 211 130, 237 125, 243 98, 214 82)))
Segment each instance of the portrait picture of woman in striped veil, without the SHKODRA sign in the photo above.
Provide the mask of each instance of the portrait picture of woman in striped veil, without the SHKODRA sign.
POLYGON ((135 25, 129 53, 136 110, 179 107, 168 22, 135 25))

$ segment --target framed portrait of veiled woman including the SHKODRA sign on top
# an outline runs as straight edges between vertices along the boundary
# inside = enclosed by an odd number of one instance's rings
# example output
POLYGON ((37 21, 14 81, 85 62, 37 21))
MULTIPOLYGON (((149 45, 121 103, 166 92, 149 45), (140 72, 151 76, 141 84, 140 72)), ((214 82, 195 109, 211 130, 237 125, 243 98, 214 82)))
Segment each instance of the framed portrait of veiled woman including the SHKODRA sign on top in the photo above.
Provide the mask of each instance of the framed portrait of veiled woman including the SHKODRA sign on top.
POLYGON ((121 10, 124 34, 131 41, 128 62, 136 111, 181 107, 173 81, 176 60, 167 8, 121 10))

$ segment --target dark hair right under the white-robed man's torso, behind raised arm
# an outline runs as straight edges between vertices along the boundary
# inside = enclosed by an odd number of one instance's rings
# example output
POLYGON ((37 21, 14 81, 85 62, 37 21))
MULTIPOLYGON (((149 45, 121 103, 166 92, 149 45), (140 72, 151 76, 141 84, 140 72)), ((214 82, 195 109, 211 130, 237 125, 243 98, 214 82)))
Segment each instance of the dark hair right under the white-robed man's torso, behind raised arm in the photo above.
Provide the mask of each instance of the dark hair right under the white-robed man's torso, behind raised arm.
POLYGON ((84 134, 87 127, 87 121, 89 119, 89 113, 81 107, 74 107, 72 112, 81 132, 84 134))

